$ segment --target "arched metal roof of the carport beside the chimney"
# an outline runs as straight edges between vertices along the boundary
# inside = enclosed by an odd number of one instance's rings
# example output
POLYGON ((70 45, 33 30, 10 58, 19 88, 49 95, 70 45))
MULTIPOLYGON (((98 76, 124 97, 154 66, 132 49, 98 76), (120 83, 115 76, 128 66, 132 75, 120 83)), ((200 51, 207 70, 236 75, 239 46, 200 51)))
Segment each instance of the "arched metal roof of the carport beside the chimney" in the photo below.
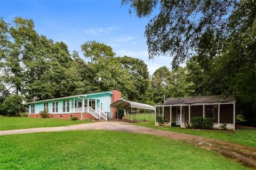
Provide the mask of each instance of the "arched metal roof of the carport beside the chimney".
POLYGON ((143 103, 137 103, 134 101, 127 101, 127 100, 117 100, 111 103, 110 107, 114 107, 118 109, 142 108, 142 109, 148 109, 148 110, 155 110, 154 106, 150 106, 143 103))

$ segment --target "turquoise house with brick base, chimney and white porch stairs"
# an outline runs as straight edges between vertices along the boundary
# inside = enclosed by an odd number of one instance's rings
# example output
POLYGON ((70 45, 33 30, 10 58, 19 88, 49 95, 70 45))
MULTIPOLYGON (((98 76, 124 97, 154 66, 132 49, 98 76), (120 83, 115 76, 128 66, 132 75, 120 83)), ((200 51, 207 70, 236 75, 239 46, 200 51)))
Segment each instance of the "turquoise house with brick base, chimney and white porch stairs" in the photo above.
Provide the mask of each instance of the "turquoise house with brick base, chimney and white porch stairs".
POLYGON ((94 94, 76 95, 49 100, 33 101, 29 106, 29 117, 40 117, 39 112, 47 110, 50 118, 100 119, 115 118, 116 109, 110 104, 121 99, 121 92, 117 90, 94 94))

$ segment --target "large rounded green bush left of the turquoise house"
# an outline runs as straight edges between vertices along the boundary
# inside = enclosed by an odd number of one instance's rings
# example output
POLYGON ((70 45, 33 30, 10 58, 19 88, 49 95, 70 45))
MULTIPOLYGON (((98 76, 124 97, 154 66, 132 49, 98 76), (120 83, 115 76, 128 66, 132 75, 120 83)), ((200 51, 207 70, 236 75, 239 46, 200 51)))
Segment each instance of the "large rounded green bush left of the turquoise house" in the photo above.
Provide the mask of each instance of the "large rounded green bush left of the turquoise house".
POLYGON ((8 116, 17 115, 20 112, 25 111, 25 107, 22 105, 23 97, 19 95, 12 95, 7 97, 1 107, 3 112, 8 116))

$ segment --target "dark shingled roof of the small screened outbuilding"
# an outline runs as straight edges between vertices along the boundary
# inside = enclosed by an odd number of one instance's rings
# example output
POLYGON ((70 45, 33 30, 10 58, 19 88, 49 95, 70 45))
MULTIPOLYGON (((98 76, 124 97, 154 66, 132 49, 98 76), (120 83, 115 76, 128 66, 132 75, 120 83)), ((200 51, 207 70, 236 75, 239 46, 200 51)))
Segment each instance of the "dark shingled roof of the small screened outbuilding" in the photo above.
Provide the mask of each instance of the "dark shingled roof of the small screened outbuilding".
POLYGON ((197 96, 197 97, 184 97, 184 98, 169 98, 164 101, 164 105, 168 104, 195 104, 195 103, 225 103, 235 102, 233 95, 223 98, 220 95, 215 96, 197 96))

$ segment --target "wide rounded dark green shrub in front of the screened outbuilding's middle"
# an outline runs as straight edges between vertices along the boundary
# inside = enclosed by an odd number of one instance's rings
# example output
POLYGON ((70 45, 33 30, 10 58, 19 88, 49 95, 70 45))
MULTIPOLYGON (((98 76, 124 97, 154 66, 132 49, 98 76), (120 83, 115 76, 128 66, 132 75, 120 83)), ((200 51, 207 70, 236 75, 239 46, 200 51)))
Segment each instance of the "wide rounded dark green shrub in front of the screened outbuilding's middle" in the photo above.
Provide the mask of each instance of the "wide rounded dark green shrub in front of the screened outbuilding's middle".
POLYGON ((195 129, 211 129, 213 126, 212 121, 205 117, 193 117, 190 122, 191 128, 195 129))

